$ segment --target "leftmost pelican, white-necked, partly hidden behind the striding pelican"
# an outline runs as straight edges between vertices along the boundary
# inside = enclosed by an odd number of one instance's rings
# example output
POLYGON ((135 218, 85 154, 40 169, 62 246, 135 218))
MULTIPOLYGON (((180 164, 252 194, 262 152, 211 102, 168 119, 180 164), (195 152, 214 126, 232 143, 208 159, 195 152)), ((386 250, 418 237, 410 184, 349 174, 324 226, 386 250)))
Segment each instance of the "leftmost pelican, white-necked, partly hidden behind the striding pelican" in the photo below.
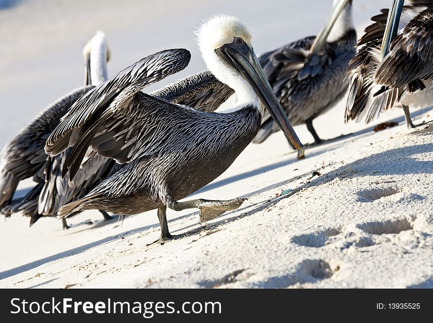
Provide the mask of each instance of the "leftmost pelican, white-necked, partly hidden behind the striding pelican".
MULTIPOLYGON (((108 78, 110 51, 101 31, 86 44, 83 57, 86 86, 72 90, 48 106, 1 151, 0 209, 6 216, 22 211, 31 218, 30 225, 42 216, 55 216, 60 206, 85 196, 102 179, 120 169, 113 160, 98 156, 68 183, 60 176, 66 153, 48 157, 44 151, 46 139, 72 104, 108 78), (12 201, 18 183, 29 177, 33 177, 37 184, 25 197, 12 201)), ((105 219, 111 219, 105 211, 100 212, 105 219)), ((63 229, 69 228, 65 219, 62 219, 62 225, 63 229)))

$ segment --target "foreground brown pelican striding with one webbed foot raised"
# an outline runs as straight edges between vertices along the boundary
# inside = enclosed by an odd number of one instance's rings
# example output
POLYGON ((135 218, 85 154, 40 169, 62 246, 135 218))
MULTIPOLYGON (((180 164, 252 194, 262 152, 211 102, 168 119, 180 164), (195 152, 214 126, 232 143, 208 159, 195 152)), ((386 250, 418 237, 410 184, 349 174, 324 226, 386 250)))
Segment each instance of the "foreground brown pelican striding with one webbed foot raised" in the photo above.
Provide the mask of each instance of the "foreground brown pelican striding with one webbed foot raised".
MULTIPOLYGON (((158 209, 160 240, 173 238, 166 208, 198 208, 212 219, 243 200, 178 202, 222 174, 251 142, 266 108, 300 155, 304 148, 278 103, 251 46, 251 35, 235 17, 215 16, 198 31, 209 70, 237 93, 236 105, 208 113, 169 103, 140 90, 184 69, 185 49, 141 59, 80 98, 47 140, 52 156, 72 146, 65 163, 70 178, 90 146, 98 155, 127 165, 86 197, 65 205, 59 216, 85 209, 129 215, 158 209)), ((192 84, 192 86, 194 86, 192 84)))

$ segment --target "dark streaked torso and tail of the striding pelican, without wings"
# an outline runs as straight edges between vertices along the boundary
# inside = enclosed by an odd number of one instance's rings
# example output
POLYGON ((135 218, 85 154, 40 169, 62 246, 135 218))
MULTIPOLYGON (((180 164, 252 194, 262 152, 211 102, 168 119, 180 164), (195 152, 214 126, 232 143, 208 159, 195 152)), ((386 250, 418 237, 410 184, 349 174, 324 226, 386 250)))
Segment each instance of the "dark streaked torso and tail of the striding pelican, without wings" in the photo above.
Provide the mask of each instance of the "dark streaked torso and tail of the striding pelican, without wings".
POLYGON ((136 96, 129 107, 143 115, 157 115, 153 121, 147 120, 147 126, 159 123, 157 134, 164 133, 165 139, 155 143, 152 152, 103 181, 86 198, 63 208, 61 214, 95 208, 137 214, 167 204, 167 196, 183 199, 221 175, 260 126, 261 116, 254 107, 229 114, 203 113, 162 102, 140 104, 144 96, 136 96), (169 119, 188 127, 176 127, 169 119))

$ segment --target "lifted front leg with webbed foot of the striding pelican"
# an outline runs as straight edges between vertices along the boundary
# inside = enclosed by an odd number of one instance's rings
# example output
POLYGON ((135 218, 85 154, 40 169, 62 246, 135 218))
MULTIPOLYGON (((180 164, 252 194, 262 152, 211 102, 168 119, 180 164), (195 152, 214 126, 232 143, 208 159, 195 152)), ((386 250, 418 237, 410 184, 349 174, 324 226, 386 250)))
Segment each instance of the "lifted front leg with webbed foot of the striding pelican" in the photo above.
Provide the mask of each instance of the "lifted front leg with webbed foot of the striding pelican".
POLYGON ((177 202, 171 200, 167 206, 175 211, 185 210, 186 208, 198 208, 200 210, 200 222, 215 219, 226 211, 237 209, 244 202, 244 199, 233 199, 228 201, 216 200, 191 200, 185 202, 177 202))

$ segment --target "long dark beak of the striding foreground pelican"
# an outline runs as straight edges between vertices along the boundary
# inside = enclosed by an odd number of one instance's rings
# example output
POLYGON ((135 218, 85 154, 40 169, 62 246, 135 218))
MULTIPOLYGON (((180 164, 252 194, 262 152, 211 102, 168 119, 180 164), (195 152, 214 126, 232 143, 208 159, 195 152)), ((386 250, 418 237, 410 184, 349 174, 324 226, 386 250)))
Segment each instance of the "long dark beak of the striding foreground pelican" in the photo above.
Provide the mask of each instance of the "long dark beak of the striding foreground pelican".
POLYGON ((303 156, 304 146, 281 108, 254 51, 245 43, 239 45, 233 41, 231 44, 217 48, 215 52, 222 61, 238 71, 248 81, 278 126, 298 150, 298 155, 303 156))

